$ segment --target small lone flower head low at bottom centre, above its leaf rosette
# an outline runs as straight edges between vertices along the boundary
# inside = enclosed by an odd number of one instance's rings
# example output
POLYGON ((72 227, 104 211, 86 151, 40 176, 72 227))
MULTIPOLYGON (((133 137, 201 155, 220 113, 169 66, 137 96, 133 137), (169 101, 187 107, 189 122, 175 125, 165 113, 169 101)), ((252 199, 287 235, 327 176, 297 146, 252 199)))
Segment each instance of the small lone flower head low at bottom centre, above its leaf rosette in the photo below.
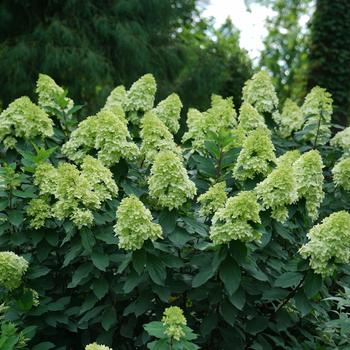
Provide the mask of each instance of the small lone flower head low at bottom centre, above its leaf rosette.
POLYGON ((184 326, 187 321, 183 311, 178 306, 170 306, 165 309, 162 323, 165 327, 164 333, 169 338, 180 340, 185 336, 184 326))

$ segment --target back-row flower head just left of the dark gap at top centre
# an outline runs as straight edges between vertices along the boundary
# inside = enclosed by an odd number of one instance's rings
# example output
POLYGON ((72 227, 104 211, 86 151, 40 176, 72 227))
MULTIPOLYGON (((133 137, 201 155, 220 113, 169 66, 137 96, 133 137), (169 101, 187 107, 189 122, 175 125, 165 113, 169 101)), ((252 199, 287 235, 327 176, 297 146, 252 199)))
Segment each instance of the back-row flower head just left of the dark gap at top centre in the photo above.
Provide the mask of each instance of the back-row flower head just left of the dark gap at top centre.
POLYGON ((181 109, 182 103, 180 97, 177 94, 171 94, 165 100, 159 102, 154 112, 166 127, 173 134, 176 134, 180 128, 179 119, 181 109))

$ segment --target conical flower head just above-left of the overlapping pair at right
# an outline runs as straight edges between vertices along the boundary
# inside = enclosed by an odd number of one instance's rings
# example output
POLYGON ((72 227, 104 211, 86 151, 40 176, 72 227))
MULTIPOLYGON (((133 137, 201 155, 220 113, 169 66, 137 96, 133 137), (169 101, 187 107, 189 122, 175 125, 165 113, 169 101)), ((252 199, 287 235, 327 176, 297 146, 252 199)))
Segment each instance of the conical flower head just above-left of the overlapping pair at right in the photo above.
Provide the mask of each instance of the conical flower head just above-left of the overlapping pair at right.
POLYGON ((233 177, 239 181, 253 179, 256 175, 266 176, 276 162, 275 147, 266 129, 252 131, 243 142, 233 177))

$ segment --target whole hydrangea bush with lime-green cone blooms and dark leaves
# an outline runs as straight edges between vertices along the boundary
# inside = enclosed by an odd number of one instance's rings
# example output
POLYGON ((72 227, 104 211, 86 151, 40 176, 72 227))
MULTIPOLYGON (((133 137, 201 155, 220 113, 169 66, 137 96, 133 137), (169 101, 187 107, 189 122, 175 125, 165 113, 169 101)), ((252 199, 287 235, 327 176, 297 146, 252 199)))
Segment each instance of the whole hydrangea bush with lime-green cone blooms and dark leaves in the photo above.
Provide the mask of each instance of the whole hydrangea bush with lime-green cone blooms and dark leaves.
POLYGON ((281 106, 265 72, 240 108, 156 90, 146 74, 84 118, 40 75, 37 102, 1 112, 0 342, 345 349, 327 325, 350 283, 350 133, 332 135, 331 96, 281 106))

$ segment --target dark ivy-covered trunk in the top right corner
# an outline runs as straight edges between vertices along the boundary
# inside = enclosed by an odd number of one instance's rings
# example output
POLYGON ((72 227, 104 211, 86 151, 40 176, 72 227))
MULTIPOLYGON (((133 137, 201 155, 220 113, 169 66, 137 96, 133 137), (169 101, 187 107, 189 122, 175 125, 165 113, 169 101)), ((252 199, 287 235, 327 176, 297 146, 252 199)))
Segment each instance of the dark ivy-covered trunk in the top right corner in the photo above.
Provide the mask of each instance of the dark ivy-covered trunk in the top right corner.
POLYGON ((317 0, 312 19, 308 88, 332 93, 334 119, 348 125, 350 115, 350 3, 317 0))

